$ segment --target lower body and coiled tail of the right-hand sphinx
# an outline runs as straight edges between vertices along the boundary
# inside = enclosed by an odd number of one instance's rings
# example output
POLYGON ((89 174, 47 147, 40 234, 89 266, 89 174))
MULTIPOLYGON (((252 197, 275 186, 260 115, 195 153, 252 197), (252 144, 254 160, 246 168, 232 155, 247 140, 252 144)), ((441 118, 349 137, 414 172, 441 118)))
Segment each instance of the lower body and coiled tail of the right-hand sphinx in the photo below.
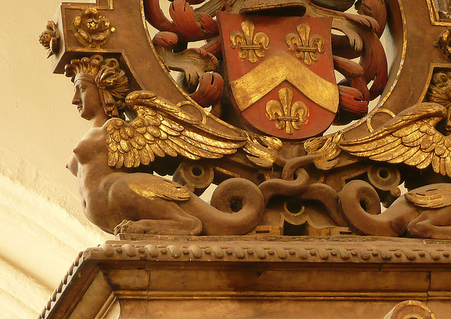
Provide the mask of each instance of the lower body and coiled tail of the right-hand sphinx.
POLYGON ((342 212, 357 234, 451 239, 451 185, 436 183, 409 191, 381 213, 378 194, 365 181, 340 192, 342 212))

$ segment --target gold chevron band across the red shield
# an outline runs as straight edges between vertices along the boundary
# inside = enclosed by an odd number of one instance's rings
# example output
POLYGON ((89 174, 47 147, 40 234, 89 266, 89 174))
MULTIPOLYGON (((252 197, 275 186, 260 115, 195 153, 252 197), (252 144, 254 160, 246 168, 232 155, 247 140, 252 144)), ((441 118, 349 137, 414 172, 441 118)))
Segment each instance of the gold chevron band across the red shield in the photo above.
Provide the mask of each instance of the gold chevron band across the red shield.
POLYGON ((278 51, 241 78, 230 83, 241 111, 287 80, 323 109, 336 113, 338 86, 318 76, 287 52, 278 51))

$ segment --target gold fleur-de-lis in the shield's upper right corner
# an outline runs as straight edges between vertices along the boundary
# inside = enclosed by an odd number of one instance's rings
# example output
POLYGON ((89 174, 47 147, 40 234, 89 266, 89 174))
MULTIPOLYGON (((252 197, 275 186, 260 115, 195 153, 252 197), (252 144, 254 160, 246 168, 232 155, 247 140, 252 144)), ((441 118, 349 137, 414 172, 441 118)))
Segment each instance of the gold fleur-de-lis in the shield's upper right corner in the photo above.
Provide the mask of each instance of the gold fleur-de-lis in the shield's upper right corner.
POLYGON ((324 53, 324 44, 326 41, 321 35, 312 35, 310 37, 310 26, 304 23, 297 25, 297 34, 288 33, 285 36, 285 42, 288 44, 290 51, 296 51, 296 56, 307 64, 311 65, 312 61, 318 61, 316 52, 324 53))

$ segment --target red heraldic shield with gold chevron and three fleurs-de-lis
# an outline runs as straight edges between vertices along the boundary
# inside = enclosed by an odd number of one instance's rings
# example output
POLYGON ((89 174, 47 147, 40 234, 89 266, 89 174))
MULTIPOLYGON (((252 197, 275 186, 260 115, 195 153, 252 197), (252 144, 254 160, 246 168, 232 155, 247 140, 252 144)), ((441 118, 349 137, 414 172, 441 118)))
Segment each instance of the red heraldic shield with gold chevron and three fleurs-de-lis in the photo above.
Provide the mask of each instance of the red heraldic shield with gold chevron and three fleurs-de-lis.
POLYGON ((218 13, 230 98, 253 131, 297 140, 330 126, 338 85, 330 18, 218 13))

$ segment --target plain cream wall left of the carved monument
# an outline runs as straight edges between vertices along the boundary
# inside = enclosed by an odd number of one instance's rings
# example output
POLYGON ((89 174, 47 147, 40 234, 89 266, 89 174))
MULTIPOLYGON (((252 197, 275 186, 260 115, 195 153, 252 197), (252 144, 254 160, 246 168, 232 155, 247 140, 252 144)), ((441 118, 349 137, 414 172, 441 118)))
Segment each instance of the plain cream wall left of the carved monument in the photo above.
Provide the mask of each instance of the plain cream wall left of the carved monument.
POLYGON ((111 238, 80 209, 65 165, 88 126, 37 41, 60 3, 0 1, 1 318, 36 318, 77 253, 111 238))

